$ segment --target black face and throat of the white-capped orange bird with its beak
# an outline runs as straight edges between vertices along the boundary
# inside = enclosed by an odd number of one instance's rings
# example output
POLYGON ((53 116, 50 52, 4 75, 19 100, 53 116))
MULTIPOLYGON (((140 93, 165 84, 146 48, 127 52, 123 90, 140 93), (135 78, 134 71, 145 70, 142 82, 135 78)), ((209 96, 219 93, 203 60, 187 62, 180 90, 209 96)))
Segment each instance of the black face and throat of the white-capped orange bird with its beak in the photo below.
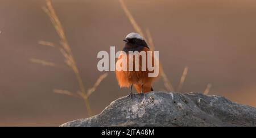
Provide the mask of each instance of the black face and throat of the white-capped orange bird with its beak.
POLYGON ((123 48, 123 51, 125 52, 127 51, 140 52, 144 47, 148 48, 146 41, 142 39, 128 38, 128 39, 124 39, 123 41, 125 41, 125 48, 123 48))

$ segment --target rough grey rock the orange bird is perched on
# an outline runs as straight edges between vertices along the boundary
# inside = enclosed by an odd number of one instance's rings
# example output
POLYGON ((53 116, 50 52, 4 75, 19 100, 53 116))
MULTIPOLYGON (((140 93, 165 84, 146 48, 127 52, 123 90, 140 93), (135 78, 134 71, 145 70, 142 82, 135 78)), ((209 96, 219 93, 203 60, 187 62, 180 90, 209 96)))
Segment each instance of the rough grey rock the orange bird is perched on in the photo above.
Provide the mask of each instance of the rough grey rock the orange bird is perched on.
POLYGON ((256 108, 216 95, 152 91, 119 98, 68 126, 256 126, 256 108))

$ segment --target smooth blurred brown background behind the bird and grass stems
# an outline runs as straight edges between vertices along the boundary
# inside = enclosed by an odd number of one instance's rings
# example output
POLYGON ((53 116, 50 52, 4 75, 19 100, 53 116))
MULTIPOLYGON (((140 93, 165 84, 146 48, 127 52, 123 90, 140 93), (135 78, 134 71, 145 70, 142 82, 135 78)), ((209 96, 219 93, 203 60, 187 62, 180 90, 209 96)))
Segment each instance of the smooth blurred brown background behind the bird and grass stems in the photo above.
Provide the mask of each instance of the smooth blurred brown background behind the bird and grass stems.
MULTIPOLYGON (((125 1, 138 24, 149 28, 160 60, 177 87, 185 66, 189 71, 182 93, 204 91, 256 107, 256 1, 125 1)), ((117 0, 53 0, 78 63, 86 89, 102 74, 97 53, 123 47, 134 29, 117 0)), ((53 89, 79 90, 71 69, 56 48, 59 43, 44 0, 0 1, 0 126, 59 126, 86 118, 84 102, 53 89), (52 68, 30 62, 39 58, 60 64, 52 68)), ((162 80, 155 90, 164 89, 162 80)), ((90 96, 94 114, 127 95, 114 72, 90 96)))

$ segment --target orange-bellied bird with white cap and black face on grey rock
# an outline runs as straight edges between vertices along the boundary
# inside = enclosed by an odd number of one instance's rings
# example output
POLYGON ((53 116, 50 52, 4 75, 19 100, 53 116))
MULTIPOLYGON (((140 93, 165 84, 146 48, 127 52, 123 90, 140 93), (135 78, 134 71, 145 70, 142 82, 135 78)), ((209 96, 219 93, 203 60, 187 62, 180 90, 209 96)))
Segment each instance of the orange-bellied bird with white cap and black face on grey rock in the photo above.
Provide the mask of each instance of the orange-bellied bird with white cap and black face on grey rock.
MULTIPOLYGON (((123 47, 121 53, 118 56, 118 60, 116 64, 118 64, 119 60, 124 60, 123 56, 126 56, 127 60, 127 70, 115 70, 116 78, 120 87, 130 87, 130 98, 132 95, 133 86, 137 90, 139 94, 148 93, 153 91, 152 82, 155 81, 157 77, 148 77, 148 73, 150 71, 146 68, 146 70, 142 71, 142 58, 139 58, 139 71, 129 71, 129 51, 135 52, 147 52, 150 51, 146 41, 144 38, 138 33, 131 32, 128 34, 125 39, 125 47, 123 47), (125 53, 125 54, 124 54, 125 53)), ((146 58, 148 60, 148 58, 146 58)), ((154 55, 152 55, 152 65, 154 65, 154 55)), ((137 62, 138 64, 138 62, 137 62)), ((116 65, 117 66, 117 65, 116 65)), ((135 60, 133 60, 133 68, 135 66, 135 60)))

